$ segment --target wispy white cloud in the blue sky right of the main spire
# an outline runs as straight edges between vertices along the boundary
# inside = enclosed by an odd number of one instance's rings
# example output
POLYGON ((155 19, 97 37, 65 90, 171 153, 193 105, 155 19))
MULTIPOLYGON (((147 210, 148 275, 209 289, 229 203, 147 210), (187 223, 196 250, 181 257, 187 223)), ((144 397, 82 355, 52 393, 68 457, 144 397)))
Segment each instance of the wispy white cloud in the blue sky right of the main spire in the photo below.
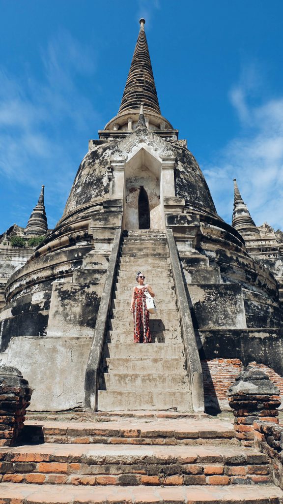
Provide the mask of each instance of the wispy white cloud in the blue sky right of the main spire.
POLYGON ((233 178, 237 178, 256 224, 267 221, 282 228, 283 97, 261 98, 260 102, 257 87, 258 80, 249 76, 229 93, 241 132, 217 153, 213 162, 204 165, 203 172, 217 210, 226 221, 231 222, 233 178))

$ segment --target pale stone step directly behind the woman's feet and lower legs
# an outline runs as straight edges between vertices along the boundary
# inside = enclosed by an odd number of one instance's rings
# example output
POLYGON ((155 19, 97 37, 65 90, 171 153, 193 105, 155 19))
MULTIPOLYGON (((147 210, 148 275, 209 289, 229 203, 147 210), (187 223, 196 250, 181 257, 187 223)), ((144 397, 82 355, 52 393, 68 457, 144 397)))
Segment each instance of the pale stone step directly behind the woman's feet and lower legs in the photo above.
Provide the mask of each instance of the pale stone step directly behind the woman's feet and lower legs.
MULTIPOLYGON (((182 334, 181 329, 176 329, 175 331, 160 331, 154 332, 152 330, 152 324, 150 322, 152 342, 157 345, 163 345, 164 343, 182 343, 182 334)), ((106 343, 132 343, 133 342, 133 326, 132 324, 128 325, 128 328, 125 332, 121 331, 107 331, 106 333, 106 343)))

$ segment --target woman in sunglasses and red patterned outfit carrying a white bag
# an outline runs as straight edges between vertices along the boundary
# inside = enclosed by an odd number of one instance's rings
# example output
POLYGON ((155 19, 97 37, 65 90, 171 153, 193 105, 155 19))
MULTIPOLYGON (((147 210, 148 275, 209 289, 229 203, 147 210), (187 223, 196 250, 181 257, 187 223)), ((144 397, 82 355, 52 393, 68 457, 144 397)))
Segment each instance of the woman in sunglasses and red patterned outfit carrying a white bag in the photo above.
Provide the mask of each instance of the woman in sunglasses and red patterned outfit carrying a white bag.
POLYGON ((152 297, 155 296, 152 288, 148 284, 144 284, 145 275, 141 271, 136 274, 138 285, 132 289, 130 310, 133 313, 133 342, 134 343, 151 343, 152 337, 150 332, 150 312, 147 309, 145 292, 148 291, 152 297), (143 340, 140 341, 141 330, 143 328, 143 340))

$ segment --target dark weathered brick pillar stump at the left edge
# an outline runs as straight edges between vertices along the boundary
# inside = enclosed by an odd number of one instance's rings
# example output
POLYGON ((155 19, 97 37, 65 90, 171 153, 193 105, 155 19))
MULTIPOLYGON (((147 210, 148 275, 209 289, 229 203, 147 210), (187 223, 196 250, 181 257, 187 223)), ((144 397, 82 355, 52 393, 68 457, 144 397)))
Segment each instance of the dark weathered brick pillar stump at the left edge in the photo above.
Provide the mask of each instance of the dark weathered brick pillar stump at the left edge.
POLYGON ((20 439, 31 395, 19 369, 0 366, 0 446, 12 446, 20 439))

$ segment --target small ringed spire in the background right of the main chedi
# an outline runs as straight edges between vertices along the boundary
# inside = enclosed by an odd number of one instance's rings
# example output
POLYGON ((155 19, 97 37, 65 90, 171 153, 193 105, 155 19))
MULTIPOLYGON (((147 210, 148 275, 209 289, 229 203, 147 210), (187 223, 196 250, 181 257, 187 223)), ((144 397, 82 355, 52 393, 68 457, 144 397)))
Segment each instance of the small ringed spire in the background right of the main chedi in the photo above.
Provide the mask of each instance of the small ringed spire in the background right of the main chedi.
POLYGON ((239 231, 243 238, 249 234, 259 234, 259 230, 252 220, 247 205, 245 205, 240 194, 236 178, 234 178, 234 211, 232 226, 239 231))

